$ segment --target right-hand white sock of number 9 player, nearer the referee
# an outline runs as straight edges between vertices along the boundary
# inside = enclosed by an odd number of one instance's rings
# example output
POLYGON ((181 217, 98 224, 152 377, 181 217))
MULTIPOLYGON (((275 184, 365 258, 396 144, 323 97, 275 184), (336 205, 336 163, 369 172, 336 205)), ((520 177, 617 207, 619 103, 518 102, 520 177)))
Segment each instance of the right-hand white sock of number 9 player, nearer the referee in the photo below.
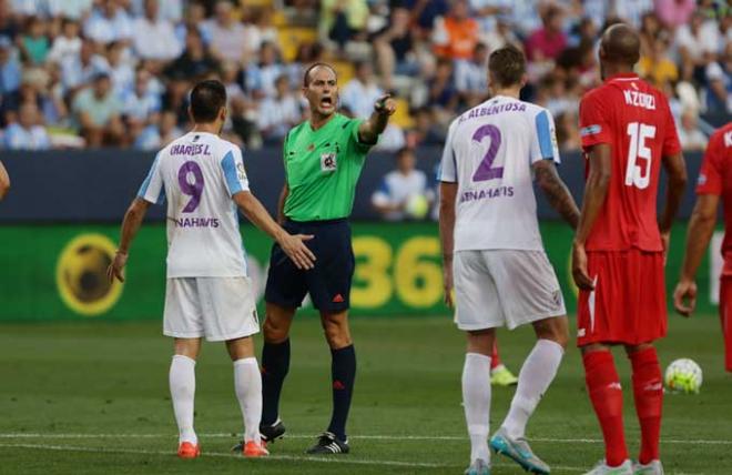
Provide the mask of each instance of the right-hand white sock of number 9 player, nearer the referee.
POLYGON ((262 374, 255 357, 234 362, 234 387, 244 418, 244 441, 254 441, 258 444, 262 421, 262 374))

